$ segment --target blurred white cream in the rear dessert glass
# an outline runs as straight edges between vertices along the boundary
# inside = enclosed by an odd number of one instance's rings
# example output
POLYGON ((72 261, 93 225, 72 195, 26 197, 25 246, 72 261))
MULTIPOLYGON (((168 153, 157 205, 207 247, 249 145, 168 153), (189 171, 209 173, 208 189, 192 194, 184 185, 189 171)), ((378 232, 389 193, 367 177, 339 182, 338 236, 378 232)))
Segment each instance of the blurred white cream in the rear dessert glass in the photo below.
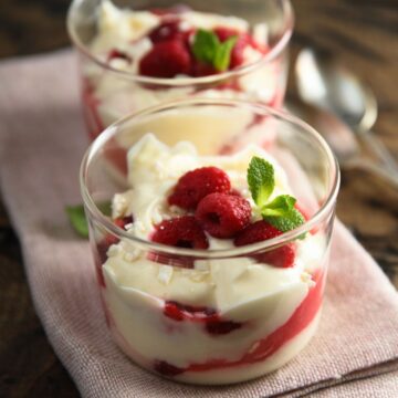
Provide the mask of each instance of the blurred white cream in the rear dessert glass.
MULTIPOLYGON (((237 17, 224 17, 192 10, 185 11, 178 17, 181 28, 212 29, 214 27, 232 28, 240 32, 248 32, 249 23, 237 17)), ((90 44, 92 54, 113 69, 134 76, 138 74, 138 65, 153 48, 147 34, 160 23, 161 18, 150 11, 135 11, 118 9, 111 1, 103 1, 97 13, 97 32, 90 44), (114 57, 108 60, 112 50, 117 49, 129 60, 114 57)), ((258 43, 266 45, 268 27, 259 23, 251 29, 258 43)), ((263 54, 247 46, 243 52, 243 64, 259 61, 263 54)), ((83 64, 84 86, 86 87, 85 106, 88 113, 95 113, 100 126, 88 126, 95 136, 103 128, 122 116, 167 101, 184 97, 207 98, 252 98, 272 106, 279 106, 283 98, 286 69, 281 59, 263 63, 250 73, 239 77, 239 90, 223 87, 222 90, 202 86, 198 90, 192 83, 184 86, 172 85, 175 80, 189 76, 177 75, 170 80, 170 86, 157 86, 137 83, 116 73, 105 72, 97 64, 85 61, 83 64), (95 105, 93 105, 95 104, 95 105)), ((192 78, 192 77, 190 77, 192 78)), ((195 80, 195 78, 193 78, 195 80)), ((98 124, 98 123, 97 123, 98 124)))

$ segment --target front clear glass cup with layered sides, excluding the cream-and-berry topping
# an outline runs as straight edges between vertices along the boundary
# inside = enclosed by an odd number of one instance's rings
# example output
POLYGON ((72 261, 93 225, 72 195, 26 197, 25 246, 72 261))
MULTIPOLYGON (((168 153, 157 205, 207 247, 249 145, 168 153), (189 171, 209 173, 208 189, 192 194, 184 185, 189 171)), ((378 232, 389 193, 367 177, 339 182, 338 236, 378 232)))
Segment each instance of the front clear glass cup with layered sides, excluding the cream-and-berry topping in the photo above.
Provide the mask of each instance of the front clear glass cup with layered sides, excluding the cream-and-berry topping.
POLYGON ((255 103, 175 102, 109 126, 83 159, 81 189, 117 345, 143 368, 182 383, 231 384, 283 366, 317 327, 338 186, 338 166, 324 139, 294 116, 255 103), (283 168, 306 221, 266 241, 216 250, 132 235, 112 221, 104 202, 128 186, 118 143, 129 148, 148 132, 166 145, 186 140, 200 156, 227 161, 249 147, 265 150, 283 168), (292 244, 294 266, 264 263, 292 244), (115 262, 122 264, 117 272, 115 262))

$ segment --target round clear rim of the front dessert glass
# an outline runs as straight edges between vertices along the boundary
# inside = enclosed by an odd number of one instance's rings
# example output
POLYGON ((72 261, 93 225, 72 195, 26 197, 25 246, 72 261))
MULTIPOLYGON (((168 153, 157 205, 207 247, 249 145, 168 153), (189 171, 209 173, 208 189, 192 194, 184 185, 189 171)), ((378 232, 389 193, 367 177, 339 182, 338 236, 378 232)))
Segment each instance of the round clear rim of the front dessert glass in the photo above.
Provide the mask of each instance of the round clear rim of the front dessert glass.
POLYGON ((338 193, 339 181, 341 181, 341 174, 339 174, 337 159, 333 154, 332 149, 329 148, 328 144, 320 135, 320 133, 315 130, 315 128, 313 128, 307 123, 303 122, 298 117, 285 111, 275 111, 266 105, 262 105, 244 100, 214 100, 214 98, 212 100, 193 98, 193 100, 182 100, 182 101, 179 100, 179 101, 174 101, 174 102, 168 102, 165 104, 151 106, 136 113, 132 113, 121 118, 116 123, 112 124, 111 126, 108 126, 103 133, 101 133, 95 138, 95 140, 90 145, 90 147, 85 151, 80 167, 80 187, 81 187, 81 195, 83 198, 85 209, 88 211, 91 217, 93 217, 103 228, 105 228, 107 232, 113 233, 119 239, 132 241, 136 247, 140 247, 144 250, 151 250, 159 253, 190 256, 197 259, 226 259, 232 256, 244 256, 263 250, 277 249, 279 247, 290 241, 296 240, 302 234, 310 232, 320 221, 322 221, 325 217, 327 217, 333 212, 336 197, 338 193), (108 139, 112 138, 117 133, 117 129, 127 122, 129 122, 130 119, 159 112, 172 111, 178 107, 187 107, 193 105, 245 106, 253 111, 256 111, 256 113, 262 112, 263 115, 272 116, 274 118, 276 117, 281 121, 289 122, 304 129, 306 134, 310 134, 312 138, 314 138, 321 145, 322 149, 326 154, 327 163, 331 166, 332 184, 328 187, 328 192, 325 202, 320 207, 320 209, 315 212, 315 214, 313 214, 298 228, 284 232, 281 235, 269 239, 266 241, 256 242, 234 249, 198 250, 198 249, 175 248, 134 237, 129 234, 127 231, 115 226, 106 216, 104 216, 104 213, 95 205, 95 201, 90 195, 88 188, 85 184, 87 177, 87 169, 90 167, 90 163, 92 158, 95 156, 95 154, 97 154, 97 151, 103 147, 103 145, 107 143, 108 139))

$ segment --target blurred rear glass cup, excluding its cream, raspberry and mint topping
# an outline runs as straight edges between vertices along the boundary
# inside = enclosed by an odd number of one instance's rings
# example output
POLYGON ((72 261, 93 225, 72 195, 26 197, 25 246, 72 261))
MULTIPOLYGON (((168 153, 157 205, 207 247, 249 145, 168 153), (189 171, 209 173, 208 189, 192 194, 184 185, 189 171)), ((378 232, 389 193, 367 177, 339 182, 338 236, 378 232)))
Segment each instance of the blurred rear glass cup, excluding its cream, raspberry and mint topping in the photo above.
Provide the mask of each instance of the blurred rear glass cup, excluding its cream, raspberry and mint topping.
MULTIPOLYGON (((251 25, 264 24, 269 51, 260 60, 231 71, 179 78, 134 74, 118 69, 119 60, 113 63, 95 54, 92 43, 98 34, 102 3, 102 0, 74 0, 67 17, 69 33, 80 59, 82 106, 91 139, 128 113, 186 97, 248 98, 276 108, 282 105, 287 76, 286 48, 293 30, 289 0, 184 1, 184 6, 196 11, 233 14, 251 25)), ((125 1, 114 3, 135 10, 175 6, 174 1, 153 0, 130 1, 127 6, 125 1)))

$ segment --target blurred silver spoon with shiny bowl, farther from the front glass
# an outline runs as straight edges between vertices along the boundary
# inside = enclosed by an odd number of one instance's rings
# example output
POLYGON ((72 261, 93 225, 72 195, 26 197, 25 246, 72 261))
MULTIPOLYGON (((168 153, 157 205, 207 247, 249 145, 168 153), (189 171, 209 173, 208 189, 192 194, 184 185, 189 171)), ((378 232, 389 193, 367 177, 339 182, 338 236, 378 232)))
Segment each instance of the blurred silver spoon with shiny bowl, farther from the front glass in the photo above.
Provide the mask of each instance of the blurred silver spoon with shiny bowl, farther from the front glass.
POLYGON ((331 55, 308 48, 297 56, 295 76, 301 100, 342 118, 377 158, 378 168, 398 175, 398 163, 370 132, 377 118, 377 102, 370 88, 331 55))

